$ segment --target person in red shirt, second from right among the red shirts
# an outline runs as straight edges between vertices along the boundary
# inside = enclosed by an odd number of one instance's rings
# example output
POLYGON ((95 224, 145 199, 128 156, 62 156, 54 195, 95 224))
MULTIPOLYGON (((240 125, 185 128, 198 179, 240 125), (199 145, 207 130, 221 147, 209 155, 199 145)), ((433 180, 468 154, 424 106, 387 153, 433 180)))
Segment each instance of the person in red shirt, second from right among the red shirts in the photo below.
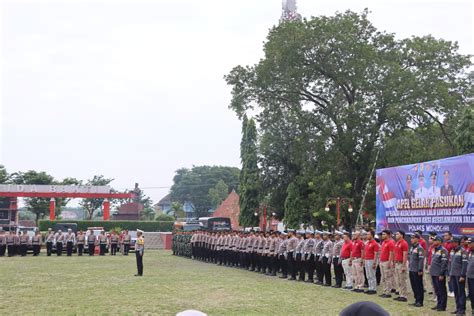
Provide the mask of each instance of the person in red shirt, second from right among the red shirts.
POLYGON ((382 298, 392 297, 390 294, 395 288, 395 275, 393 271, 393 250, 395 241, 392 239, 392 231, 382 232, 382 247, 380 249, 380 270, 382 272, 382 282, 384 284, 382 298))

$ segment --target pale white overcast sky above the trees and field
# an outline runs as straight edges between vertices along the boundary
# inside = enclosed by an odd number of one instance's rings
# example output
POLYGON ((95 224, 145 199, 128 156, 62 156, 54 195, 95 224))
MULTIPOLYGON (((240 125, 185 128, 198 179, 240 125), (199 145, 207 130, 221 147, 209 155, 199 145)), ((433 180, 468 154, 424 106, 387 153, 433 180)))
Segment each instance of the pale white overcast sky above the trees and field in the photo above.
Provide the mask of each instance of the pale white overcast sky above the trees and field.
MULTIPOLYGON (((240 167, 223 76, 262 57, 279 0, 3 1, 0 164, 57 179, 167 187, 192 165, 240 167)), ((473 53, 468 0, 299 0, 304 17, 365 7, 398 37, 473 53), (355 3, 356 2, 356 3, 355 3)), ((148 189, 157 202, 168 189, 148 189)))

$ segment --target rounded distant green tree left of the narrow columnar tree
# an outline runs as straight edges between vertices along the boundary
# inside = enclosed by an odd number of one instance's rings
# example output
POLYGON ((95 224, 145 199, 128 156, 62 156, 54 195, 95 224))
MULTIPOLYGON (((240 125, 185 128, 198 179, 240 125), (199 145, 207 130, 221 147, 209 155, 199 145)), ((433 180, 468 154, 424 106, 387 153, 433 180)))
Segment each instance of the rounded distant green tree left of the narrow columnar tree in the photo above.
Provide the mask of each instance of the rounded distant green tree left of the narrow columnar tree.
POLYGON ((170 190, 171 200, 182 204, 190 202, 194 206, 196 216, 208 216, 208 211, 214 207, 209 189, 215 188, 220 180, 229 189, 236 188, 239 184, 239 173, 238 168, 225 166, 194 166, 191 169, 178 169, 170 190))

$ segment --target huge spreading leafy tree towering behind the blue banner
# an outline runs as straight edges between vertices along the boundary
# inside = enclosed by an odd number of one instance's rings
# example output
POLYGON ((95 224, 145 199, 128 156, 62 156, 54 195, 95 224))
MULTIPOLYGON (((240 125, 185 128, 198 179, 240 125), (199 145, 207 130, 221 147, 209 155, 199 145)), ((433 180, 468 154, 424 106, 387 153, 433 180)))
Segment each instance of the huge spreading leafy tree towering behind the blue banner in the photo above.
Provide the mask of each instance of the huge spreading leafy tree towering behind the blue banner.
MULTIPOLYGON (((259 113, 265 185, 281 179, 288 188, 298 175, 318 180, 331 171, 336 193, 347 191, 357 209, 385 138, 436 128, 443 150, 456 153, 452 118, 472 84, 469 56, 431 36, 396 39, 367 14, 282 23, 270 30, 263 59, 226 76, 238 116, 259 113)), ((323 208, 324 188, 311 182, 320 203, 313 207, 323 208)), ((288 194, 265 190, 280 206, 288 194)))

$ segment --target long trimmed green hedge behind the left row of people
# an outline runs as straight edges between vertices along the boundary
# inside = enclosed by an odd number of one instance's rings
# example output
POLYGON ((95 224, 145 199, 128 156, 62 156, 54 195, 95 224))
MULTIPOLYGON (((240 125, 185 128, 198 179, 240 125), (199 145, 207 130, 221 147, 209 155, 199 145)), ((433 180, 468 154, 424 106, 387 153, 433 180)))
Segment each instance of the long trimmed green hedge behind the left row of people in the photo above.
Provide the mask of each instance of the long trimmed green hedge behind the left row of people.
POLYGON ((54 228, 56 223, 77 223, 78 230, 87 230, 88 227, 104 227, 105 230, 110 231, 119 227, 127 230, 141 229, 146 232, 170 232, 173 229, 174 219, 171 221, 50 221, 40 220, 39 229, 46 231, 48 228, 54 228))

